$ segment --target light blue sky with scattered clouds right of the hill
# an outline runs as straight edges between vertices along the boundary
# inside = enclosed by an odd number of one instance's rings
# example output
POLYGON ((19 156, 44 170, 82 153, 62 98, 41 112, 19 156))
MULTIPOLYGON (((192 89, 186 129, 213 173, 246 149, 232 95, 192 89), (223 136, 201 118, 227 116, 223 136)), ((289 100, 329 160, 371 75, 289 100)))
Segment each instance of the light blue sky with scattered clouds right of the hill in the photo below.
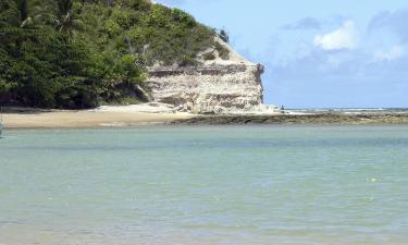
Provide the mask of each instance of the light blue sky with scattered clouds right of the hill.
POLYGON ((157 0, 265 66, 265 103, 408 108, 407 0, 157 0))

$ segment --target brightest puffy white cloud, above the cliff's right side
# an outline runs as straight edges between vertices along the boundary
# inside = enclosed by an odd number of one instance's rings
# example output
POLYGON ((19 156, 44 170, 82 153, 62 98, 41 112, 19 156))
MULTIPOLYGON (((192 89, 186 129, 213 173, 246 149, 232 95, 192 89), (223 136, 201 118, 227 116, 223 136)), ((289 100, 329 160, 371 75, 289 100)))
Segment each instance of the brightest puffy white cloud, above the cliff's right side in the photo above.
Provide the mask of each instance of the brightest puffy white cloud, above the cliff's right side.
POLYGON ((356 25, 353 21, 346 21, 343 26, 332 33, 317 35, 313 44, 324 50, 353 49, 358 44, 356 25))

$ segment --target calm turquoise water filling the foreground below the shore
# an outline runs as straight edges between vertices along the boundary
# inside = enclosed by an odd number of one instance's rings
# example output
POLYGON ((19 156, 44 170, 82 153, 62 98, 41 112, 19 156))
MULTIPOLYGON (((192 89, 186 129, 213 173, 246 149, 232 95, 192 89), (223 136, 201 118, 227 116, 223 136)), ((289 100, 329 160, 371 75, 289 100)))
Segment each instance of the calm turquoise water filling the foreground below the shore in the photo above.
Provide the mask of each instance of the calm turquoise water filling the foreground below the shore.
POLYGON ((408 244, 408 126, 8 131, 0 244, 408 244))

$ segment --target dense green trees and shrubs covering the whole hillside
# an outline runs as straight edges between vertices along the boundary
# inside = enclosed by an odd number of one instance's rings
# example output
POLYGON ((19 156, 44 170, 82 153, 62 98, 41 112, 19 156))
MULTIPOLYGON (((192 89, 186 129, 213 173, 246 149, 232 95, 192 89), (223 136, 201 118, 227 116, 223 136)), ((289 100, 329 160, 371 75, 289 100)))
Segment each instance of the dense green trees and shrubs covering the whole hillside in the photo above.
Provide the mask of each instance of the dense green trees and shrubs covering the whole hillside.
POLYGON ((146 65, 194 64, 213 36, 187 13, 147 0, 0 0, 0 102, 143 100, 146 65))

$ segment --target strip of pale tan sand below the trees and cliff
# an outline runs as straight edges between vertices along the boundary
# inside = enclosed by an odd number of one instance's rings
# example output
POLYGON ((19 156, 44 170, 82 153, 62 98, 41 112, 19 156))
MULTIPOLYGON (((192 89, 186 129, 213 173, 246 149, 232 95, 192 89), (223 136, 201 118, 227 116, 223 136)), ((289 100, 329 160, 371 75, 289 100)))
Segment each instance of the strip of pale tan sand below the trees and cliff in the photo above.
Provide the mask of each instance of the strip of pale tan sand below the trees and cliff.
POLYGON ((169 123, 191 118, 189 113, 148 112, 139 108, 97 110, 20 110, 3 113, 5 128, 103 127, 169 123))

